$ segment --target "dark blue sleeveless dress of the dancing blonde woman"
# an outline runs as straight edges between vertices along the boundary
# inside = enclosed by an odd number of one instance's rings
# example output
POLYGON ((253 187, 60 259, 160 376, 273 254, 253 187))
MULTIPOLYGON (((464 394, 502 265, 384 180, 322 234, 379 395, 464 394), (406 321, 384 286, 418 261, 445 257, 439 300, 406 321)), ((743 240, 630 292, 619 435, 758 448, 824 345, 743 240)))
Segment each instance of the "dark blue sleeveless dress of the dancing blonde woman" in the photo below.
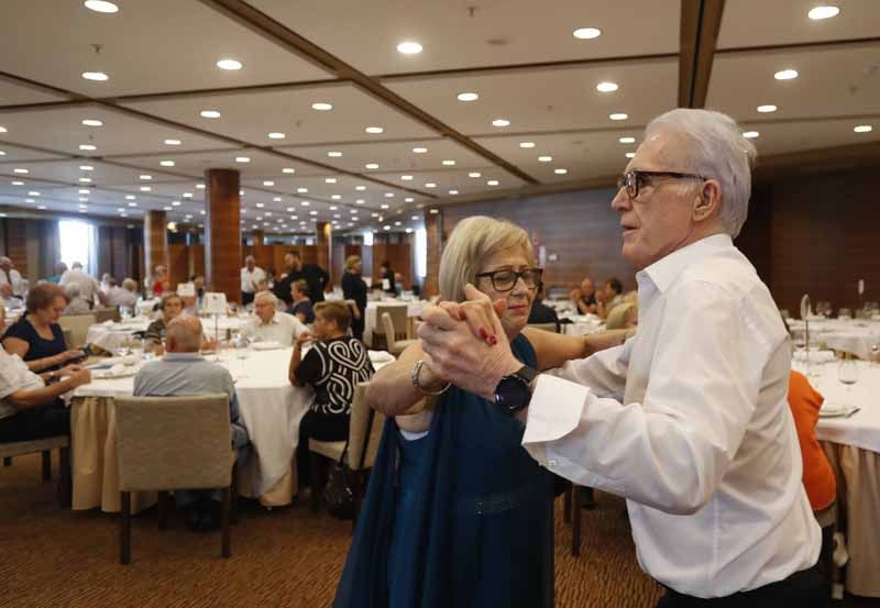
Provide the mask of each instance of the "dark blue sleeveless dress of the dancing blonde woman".
MULTIPOLYGON (((510 346, 537 367, 524 335, 510 346)), ((389 419, 333 608, 551 607, 553 482, 524 430, 454 386, 426 436, 389 419)))

